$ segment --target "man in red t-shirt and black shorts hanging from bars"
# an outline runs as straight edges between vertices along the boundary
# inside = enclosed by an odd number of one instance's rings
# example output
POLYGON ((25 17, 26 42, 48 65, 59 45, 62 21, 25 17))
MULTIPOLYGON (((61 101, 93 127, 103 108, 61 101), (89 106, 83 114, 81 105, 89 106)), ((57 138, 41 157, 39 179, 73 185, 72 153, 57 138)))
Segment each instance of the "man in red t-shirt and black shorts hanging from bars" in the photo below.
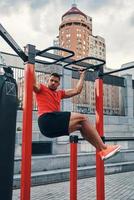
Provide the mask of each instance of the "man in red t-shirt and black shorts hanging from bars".
POLYGON ((38 107, 38 125, 43 135, 49 138, 70 135, 79 130, 81 135, 92 144, 101 159, 107 159, 120 151, 120 145, 106 145, 88 117, 76 112, 60 110, 61 100, 81 93, 86 71, 79 71, 80 79, 72 89, 58 89, 60 75, 52 73, 47 84, 39 84, 34 72, 34 92, 38 107))

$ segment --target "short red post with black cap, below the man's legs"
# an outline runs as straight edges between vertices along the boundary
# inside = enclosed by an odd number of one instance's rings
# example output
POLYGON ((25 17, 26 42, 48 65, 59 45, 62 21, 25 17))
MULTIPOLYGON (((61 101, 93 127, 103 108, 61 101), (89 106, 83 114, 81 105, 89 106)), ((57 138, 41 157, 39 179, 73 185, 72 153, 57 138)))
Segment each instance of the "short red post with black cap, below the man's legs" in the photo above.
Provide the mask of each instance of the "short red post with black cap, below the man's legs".
POLYGON ((77 200, 77 144, 78 136, 70 136, 70 200, 77 200))

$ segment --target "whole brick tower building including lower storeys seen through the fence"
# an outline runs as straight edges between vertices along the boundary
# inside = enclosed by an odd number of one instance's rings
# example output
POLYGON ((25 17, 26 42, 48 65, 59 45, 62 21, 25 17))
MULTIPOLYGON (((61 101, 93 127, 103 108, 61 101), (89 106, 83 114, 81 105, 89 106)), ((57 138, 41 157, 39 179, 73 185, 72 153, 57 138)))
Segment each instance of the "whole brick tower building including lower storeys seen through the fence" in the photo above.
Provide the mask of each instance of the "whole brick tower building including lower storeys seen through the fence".
MULTIPOLYGON (((73 4, 72 8, 62 16, 59 37, 57 37, 59 46, 73 50, 75 52, 74 59, 76 60, 87 56, 106 60, 105 39, 101 36, 94 36, 92 32, 92 18, 80 11, 76 4, 73 4)), ((65 55, 65 52, 62 55, 65 55)), ((86 62, 97 64, 98 61, 86 60, 86 62)), ((77 80, 72 79, 72 86, 75 86, 76 82, 77 80)), ((119 87, 104 85, 105 114, 120 114, 119 99, 119 87)), ((76 110, 79 108, 78 110, 87 110, 89 113, 94 113, 95 92, 93 82, 85 81, 82 94, 73 98, 73 107, 76 110)))

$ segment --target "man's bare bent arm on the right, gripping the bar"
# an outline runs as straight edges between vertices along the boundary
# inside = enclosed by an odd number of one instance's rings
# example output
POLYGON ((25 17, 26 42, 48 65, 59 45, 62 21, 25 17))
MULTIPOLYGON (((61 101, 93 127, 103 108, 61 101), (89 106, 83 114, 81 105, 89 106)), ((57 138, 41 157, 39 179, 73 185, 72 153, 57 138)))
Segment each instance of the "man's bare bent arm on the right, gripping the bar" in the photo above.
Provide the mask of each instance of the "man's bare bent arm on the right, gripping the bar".
POLYGON ((80 94, 82 91, 82 88, 83 88, 84 78, 85 78, 85 71, 80 70, 80 79, 79 79, 76 87, 65 90, 64 98, 69 98, 69 97, 73 97, 77 94, 80 94))

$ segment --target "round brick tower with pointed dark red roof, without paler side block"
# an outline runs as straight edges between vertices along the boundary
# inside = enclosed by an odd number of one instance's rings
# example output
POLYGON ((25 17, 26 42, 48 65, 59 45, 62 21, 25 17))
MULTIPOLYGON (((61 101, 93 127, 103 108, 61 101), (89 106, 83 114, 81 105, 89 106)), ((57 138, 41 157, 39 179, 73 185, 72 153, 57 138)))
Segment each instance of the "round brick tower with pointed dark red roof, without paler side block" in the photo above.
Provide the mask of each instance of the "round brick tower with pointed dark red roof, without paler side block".
MULTIPOLYGON (((76 4, 62 16, 59 26, 59 45, 75 52, 75 59, 89 55, 89 36, 92 18, 81 12, 76 4)), ((63 53, 64 54, 64 53, 63 53)))

